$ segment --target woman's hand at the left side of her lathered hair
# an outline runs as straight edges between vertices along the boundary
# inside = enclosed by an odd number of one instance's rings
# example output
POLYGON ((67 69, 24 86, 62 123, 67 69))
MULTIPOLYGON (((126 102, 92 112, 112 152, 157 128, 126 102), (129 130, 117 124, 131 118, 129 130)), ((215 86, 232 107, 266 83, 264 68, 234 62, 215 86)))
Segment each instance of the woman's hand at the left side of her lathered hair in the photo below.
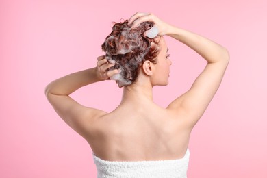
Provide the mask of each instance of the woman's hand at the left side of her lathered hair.
POLYGON ((101 55, 97 58, 97 77, 102 80, 110 79, 112 75, 120 73, 119 69, 109 71, 109 68, 114 66, 115 63, 110 63, 105 58, 105 55, 101 55))

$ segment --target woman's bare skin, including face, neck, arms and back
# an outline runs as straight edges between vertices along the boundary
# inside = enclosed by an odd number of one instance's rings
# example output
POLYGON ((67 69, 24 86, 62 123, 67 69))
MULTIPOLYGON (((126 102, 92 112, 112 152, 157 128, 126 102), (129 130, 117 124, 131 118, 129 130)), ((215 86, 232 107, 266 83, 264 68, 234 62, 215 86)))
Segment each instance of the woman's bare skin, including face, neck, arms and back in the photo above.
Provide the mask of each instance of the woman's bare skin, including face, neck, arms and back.
POLYGON ((104 56, 97 67, 66 75, 51 82, 46 95, 59 116, 83 136, 97 157, 103 160, 174 160, 183 157, 190 133, 205 112, 220 86, 229 62, 228 51, 203 36, 174 27, 153 14, 136 13, 129 19, 132 27, 154 21, 159 29, 160 53, 157 64, 144 62, 136 83, 123 89, 118 107, 103 112, 84 107, 69 97, 75 90, 103 81, 120 71, 107 71, 104 56), (163 36, 170 36, 199 53, 207 66, 188 92, 167 108, 153 102, 153 86, 167 85, 171 62, 163 36))

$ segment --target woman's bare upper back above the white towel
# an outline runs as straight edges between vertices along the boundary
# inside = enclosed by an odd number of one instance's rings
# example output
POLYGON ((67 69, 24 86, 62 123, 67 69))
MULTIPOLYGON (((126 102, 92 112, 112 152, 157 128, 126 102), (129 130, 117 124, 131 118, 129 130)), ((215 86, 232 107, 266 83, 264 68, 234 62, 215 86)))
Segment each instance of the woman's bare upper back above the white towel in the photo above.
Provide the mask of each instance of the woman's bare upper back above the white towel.
POLYGON ((125 103, 97 118, 90 146, 110 161, 174 160, 188 148, 190 129, 182 118, 154 103, 125 103))

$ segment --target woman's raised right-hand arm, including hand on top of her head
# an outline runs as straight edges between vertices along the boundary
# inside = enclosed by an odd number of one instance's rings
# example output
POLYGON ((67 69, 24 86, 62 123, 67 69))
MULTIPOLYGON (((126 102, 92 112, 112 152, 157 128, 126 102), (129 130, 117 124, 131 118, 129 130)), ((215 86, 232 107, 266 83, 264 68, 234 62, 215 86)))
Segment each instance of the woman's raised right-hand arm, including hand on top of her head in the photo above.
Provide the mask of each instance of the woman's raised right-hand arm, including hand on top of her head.
POLYGON ((130 18, 129 24, 134 27, 144 21, 153 21, 159 29, 158 35, 175 38, 199 53, 207 61, 207 66, 196 78, 190 90, 168 105, 168 110, 175 111, 177 117, 185 118, 188 126, 193 127, 220 86, 229 63, 229 53, 220 44, 185 29, 169 25, 153 14, 136 13, 130 18))

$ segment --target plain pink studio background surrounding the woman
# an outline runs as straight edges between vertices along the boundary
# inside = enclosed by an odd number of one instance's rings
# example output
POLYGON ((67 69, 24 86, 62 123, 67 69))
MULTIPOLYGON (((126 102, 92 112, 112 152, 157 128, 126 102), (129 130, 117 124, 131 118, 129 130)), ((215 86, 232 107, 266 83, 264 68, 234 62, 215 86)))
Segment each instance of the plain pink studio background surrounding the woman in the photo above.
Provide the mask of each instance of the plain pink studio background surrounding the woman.
MULTIPOLYGON (((207 36, 231 54, 220 89, 192 131, 188 177, 267 177, 264 0, 1 0, 0 177, 96 177, 88 143, 55 114, 44 87, 93 67, 112 21, 137 11, 207 36)), ((173 65, 170 84, 155 87, 162 106, 188 90, 205 66, 194 51, 166 40, 173 65)), ((121 91, 106 81, 73 97, 112 111, 121 91)))

